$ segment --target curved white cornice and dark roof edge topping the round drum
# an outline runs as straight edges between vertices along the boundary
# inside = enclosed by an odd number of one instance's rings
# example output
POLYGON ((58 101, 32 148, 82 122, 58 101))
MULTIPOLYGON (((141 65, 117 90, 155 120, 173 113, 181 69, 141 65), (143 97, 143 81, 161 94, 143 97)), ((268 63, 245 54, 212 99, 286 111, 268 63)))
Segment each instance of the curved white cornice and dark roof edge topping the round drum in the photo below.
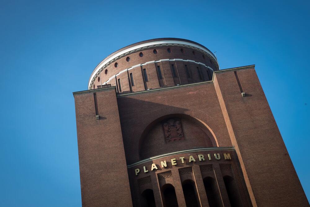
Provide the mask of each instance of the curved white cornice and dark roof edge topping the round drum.
MULTIPOLYGON (((192 47, 193 47, 193 45, 195 46, 198 46, 198 47, 196 47, 196 48, 198 48, 198 49, 200 49, 200 50, 202 50, 202 51, 205 51, 206 53, 208 53, 214 60, 215 60, 215 62, 217 63, 217 66, 218 66, 218 62, 217 62, 217 59, 216 59, 216 57, 215 57, 215 55, 208 49, 208 48, 206 48, 205 46, 203 46, 202 44, 199 44, 199 43, 197 43, 197 42, 194 42, 194 41, 191 41, 191 40, 188 40, 188 39, 181 39, 181 38, 156 38, 156 39, 148 39, 148 40, 144 40, 144 41, 141 41, 141 42, 137 42, 137 43, 134 43, 134 44, 130 44, 130 45, 128 45, 128 46, 126 46, 126 47, 123 47, 123 48, 121 48, 121 49, 119 49, 119 50, 117 50, 117 51, 115 51, 115 52, 113 52, 113 53, 111 53, 110 55, 108 55, 108 57, 106 57, 106 58, 104 58, 96 67, 95 67, 95 69, 93 70, 93 72, 91 73, 91 76, 90 76, 90 78, 89 78, 89 81, 88 81, 88 89, 91 89, 91 83, 92 82, 94 82, 93 80, 94 80, 94 76, 96 75, 96 73, 98 73, 99 74, 99 72, 100 71, 102 71, 102 70, 100 70, 100 68, 101 67, 107 67, 111 62, 114 62, 115 60, 117 60, 117 59, 119 59, 119 58, 121 58, 121 57, 123 57, 124 56, 124 54, 122 54, 122 52, 124 51, 125 53, 126 53, 126 55, 128 55, 128 53, 129 53, 129 51, 125 51, 125 50, 128 50, 128 49, 130 49, 130 48, 132 48, 132 50, 134 50, 134 52, 136 52, 136 51, 138 51, 138 50, 142 50, 142 49, 146 49, 145 47, 143 47, 143 48, 139 48, 139 47, 137 47, 137 46, 139 46, 139 45, 143 45, 143 44, 148 44, 149 45, 149 43, 164 43, 164 42, 166 42, 166 45, 156 45, 156 47, 161 47, 161 46, 169 46, 169 45, 171 45, 171 46, 178 46, 178 45, 174 45, 173 43, 175 42, 175 43, 180 43, 180 44, 182 44, 182 42, 183 43, 188 43, 188 44, 190 44, 190 45, 192 45, 192 47), (113 57, 113 56, 115 56, 115 55, 117 55, 117 54, 120 54, 120 56, 117 56, 117 57, 113 57), (110 60, 112 58, 112 60, 110 60), (105 64, 103 64, 103 63, 105 63, 105 64), (98 69, 99 68, 99 69, 98 69)), ((219 66, 218 66, 219 67, 219 66)), ((102 68, 103 69, 103 68, 102 68)), ((95 78, 96 78, 97 76, 95 76, 95 78)))

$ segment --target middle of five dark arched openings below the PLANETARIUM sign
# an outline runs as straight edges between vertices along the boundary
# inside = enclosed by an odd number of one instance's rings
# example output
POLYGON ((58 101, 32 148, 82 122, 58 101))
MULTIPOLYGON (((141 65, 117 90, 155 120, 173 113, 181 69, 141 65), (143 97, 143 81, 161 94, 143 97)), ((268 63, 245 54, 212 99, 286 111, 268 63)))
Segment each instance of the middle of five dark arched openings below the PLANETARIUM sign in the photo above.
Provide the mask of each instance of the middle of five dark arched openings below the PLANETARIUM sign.
POLYGON ((198 207, 197 190, 194 181, 185 180, 182 183, 185 203, 187 207, 198 207))

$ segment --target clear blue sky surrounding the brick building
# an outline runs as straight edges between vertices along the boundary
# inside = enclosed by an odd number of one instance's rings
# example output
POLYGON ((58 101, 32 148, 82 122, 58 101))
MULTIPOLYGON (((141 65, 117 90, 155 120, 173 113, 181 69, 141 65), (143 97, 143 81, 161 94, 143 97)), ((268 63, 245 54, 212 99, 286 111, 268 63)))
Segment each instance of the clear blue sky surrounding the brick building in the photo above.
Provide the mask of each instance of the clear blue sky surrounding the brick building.
POLYGON ((309 8, 299 0, 2 0, 0 206, 81 206, 72 92, 87 90, 110 53, 160 37, 217 51, 221 69, 256 65, 309 198, 309 8))

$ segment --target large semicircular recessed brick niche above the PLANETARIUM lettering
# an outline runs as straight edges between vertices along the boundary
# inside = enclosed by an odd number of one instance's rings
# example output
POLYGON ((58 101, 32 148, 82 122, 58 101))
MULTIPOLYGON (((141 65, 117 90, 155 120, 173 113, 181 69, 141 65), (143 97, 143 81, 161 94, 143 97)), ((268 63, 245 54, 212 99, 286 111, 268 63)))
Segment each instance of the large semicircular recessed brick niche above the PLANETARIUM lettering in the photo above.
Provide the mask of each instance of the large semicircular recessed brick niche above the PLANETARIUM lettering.
POLYGON ((144 129, 139 141, 140 159, 196 148, 215 147, 214 133, 206 123, 186 114, 157 118, 144 129))

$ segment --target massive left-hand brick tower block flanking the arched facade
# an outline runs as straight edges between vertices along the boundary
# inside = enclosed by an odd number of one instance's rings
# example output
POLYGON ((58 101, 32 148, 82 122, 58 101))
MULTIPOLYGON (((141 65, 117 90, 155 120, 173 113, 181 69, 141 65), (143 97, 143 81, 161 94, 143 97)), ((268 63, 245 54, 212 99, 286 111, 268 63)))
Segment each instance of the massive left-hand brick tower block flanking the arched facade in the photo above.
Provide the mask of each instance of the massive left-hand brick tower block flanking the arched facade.
POLYGON ((74 99, 82 206, 132 206, 115 87, 74 99))

